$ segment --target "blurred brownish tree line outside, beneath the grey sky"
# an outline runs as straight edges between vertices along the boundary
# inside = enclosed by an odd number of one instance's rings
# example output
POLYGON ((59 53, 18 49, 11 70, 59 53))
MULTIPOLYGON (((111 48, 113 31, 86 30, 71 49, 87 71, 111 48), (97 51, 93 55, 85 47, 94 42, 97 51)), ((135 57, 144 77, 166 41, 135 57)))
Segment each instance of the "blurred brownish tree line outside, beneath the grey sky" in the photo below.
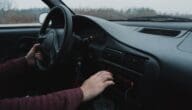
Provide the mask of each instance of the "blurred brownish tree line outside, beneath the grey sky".
MULTIPOLYGON (((101 9, 73 9, 76 14, 92 15, 101 17, 107 20, 127 20, 132 17, 168 15, 159 13, 150 8, 132 8, 127 10, 115 10, 108 8, 101 9)), ((39 16, 43 12, 48 12, 46 8, 33 9, 7 9, 0 8, 0 24, 18 24, 18 23, 37 23, 39 16)), ((170 15, 170 14, 169 14, 170 15)), ((192 18, 192 15, 187 14, 171 14, 172 16, 192 18)))

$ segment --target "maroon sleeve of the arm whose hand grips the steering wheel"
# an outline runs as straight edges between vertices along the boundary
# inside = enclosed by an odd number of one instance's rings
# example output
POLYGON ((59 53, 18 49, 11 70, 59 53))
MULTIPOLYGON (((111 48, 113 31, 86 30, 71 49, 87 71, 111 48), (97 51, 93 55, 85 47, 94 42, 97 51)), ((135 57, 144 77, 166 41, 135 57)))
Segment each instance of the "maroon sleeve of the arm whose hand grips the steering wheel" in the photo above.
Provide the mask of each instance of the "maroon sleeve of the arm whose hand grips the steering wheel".
POLYGON ((9 60, 0 64, 0 75, 8 75, 8 73, 22 73, 27 72, 29 65, 25 57, 21 57, 14 60, 9 60))

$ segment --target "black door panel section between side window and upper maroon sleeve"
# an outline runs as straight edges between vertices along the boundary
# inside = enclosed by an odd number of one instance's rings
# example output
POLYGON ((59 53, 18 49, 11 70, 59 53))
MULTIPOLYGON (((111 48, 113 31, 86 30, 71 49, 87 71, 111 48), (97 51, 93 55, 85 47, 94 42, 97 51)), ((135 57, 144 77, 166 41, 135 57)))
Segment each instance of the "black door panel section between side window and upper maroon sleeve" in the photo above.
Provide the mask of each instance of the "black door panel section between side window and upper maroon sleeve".
POLYGON ((40 28, 0 28, 0 62, 26 54, 36 42, 40 28))

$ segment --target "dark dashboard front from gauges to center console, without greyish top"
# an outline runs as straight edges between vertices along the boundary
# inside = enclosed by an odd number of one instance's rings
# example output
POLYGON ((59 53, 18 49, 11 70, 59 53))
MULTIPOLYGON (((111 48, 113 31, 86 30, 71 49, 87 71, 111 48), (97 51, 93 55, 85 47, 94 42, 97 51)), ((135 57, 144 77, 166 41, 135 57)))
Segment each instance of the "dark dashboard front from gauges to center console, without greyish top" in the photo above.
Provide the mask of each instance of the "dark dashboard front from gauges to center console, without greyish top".
POLYGON ((159 63, 154 57, 117 41, 98 24, 84 17, 74 18, 74 33, 81 39, 89 39, 84 51, 87 53, 84 56, 86 70, 81 72, 80 76, 85 77, 82 80, 88 77, 86 73, 112 72, 116 85, 108 88, 104 97, 116 103, 114 106, 120 110, 141 109, 153 102, 152 94, 160 73, 159 63))

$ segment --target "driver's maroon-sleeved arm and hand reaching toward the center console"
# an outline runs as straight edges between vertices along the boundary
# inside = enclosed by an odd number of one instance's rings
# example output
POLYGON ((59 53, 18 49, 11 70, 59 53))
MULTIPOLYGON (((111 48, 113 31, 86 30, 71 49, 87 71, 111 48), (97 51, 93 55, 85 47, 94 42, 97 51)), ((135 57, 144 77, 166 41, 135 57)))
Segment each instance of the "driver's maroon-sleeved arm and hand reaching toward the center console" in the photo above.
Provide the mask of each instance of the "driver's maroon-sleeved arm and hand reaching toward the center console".
POLYGON ((100 71, 80 88, 43 96, 0 100, 0 110, 76 110, 81 102, 93 99, 110 85, 114 85, 112 74, 100 71))

